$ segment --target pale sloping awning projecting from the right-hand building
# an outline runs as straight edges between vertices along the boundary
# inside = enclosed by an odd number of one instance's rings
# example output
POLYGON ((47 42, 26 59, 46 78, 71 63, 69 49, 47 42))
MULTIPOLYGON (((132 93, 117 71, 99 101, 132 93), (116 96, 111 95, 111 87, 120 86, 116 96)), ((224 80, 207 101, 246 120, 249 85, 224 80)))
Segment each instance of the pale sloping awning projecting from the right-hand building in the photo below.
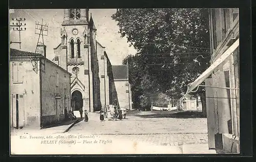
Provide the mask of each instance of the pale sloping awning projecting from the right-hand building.
POLYGON ((197 88, 213 71, 218 67, 227 57, 239 46, 239 39, 234 42, 214 63, 208 67, 193 83, 187 85, 187 92, 184 96, 187 96, 188 93, 197 88))

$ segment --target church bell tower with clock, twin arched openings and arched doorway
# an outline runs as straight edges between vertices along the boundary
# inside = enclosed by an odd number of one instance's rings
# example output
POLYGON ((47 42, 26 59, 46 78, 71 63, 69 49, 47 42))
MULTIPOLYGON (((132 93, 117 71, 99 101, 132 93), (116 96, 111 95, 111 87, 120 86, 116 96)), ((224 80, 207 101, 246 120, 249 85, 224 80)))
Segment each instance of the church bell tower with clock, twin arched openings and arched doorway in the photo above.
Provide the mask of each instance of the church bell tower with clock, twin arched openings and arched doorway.
POLYGON ((72 74, 72 110, 75 114, 80 109, 93 112, 89 9, 64 9, 61 25, 62 41, 54 50, 59 66, 72 74))

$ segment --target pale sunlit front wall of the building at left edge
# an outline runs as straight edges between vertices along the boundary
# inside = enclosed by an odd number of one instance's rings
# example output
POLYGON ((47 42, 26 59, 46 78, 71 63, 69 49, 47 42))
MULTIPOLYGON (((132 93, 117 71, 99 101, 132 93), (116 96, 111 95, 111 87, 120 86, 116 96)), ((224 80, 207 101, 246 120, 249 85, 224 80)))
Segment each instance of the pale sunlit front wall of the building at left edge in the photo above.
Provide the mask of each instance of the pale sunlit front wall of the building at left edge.
MULTIPOLYGON (((12 95, 19 94, 24 95, 24 110, 19 112, 20 115, 24 115, 24 126, 28 125, 40 125, 40 88, 39 88, 39 62, 38 71, 35 73, 32 64, 29 60, 17 60, 12 59, 10 62, 10 124, 13 125, 15 118, 16 105, 13 101, 12 95), (18 71, 13 67, 13 64, 18 65, 18 71), (21 65, 19 65, 21 64, 21 65), (13 77, 18 74, 19 82, 15 82, 13 77)), ((22 105, 20 105, 22 106, 22 105)))

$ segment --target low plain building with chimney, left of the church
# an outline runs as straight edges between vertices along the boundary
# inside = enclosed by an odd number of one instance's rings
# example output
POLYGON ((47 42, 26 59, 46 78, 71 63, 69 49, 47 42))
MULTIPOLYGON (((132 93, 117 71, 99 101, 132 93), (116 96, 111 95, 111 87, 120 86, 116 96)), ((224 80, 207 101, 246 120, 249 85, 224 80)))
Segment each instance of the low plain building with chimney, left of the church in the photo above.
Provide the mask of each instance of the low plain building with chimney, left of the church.
POLYGON ((71 73, 45 58, 46 46, 38 48, 39 53, 10 49, 10 124, 16 128, 48 126, 70 109, 71 73))

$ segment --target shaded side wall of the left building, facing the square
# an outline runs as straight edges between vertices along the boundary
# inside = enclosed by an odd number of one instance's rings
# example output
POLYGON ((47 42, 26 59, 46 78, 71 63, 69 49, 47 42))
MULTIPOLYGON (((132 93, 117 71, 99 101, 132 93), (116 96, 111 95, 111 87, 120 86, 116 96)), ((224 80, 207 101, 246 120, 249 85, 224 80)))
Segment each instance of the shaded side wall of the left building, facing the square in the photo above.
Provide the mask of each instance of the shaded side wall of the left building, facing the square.
POLYGON ((70 74, 46 60, 41 72, 42 126, 62 121, 64 110, 70 109, 70 74))

